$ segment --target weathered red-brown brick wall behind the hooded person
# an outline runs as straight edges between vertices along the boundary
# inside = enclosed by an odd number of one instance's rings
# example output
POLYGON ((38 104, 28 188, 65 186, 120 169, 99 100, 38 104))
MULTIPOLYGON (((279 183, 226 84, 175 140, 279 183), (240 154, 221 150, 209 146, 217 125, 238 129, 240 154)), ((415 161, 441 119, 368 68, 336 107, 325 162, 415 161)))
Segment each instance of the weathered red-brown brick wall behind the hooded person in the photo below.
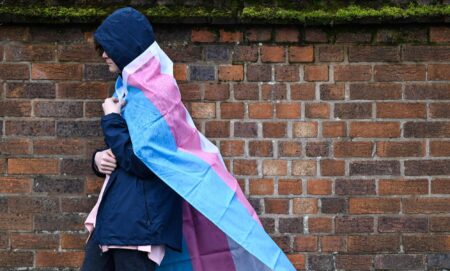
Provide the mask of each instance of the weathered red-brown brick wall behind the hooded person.
MULTIPOLYGON (((0 26, 0 267, 82 261, 114 80, 93 29, 0 26)), ((197 127, 297 268, 450 268, 448 26, 155 31, 197 127)))

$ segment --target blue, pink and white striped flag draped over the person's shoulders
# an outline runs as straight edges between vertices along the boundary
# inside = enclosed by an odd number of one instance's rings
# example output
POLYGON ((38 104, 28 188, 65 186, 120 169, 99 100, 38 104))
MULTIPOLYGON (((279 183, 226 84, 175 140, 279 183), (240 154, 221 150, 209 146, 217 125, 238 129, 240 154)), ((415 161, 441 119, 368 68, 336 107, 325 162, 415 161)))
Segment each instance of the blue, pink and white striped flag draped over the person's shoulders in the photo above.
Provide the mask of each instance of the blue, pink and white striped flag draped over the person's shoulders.
POLYGON ((123 70, 115 96, 135 154, 184 198, 183 251, 157 270, 295 270, 264 231, 217 149, 181 102, 173 64, 154 42, 123 70))

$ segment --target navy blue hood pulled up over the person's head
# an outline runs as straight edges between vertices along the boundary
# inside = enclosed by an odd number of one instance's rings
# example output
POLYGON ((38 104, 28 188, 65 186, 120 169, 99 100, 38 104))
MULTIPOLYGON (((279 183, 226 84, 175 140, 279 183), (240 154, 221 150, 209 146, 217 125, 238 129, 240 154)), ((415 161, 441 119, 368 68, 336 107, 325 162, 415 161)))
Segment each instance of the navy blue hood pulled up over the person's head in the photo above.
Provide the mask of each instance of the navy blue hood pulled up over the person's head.
POLYGON ((121 71, 155 41, 150 22, 131 7, 109 15, 95 31, 94 38, 121 71))

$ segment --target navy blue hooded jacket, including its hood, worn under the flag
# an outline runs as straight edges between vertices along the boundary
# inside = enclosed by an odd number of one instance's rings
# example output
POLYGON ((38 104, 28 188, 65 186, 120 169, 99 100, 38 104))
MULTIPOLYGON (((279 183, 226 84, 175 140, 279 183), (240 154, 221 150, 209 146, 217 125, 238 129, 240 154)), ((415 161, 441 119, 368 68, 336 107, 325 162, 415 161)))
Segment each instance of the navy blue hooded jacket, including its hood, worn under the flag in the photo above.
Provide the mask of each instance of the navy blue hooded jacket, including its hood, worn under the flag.
MULTIPOLYGON (((154 41, 150 23, 132 8, 111 14, 94 38, 121 70, 154 41)), ((99 206, 96 239, 101 245, 166 245, 181 250, 181 197, 134 154, 127 124, 119 114, 103 116, 101 125, 117 168, 99 206)))

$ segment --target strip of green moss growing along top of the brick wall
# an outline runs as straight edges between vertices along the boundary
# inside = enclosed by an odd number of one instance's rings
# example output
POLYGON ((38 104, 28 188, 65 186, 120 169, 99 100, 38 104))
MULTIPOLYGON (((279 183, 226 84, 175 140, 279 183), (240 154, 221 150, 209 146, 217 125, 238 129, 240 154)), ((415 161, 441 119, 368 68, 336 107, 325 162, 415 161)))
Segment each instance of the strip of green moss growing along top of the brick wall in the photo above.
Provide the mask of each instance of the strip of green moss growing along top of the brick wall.
MULTIPOLYGON (((41 22, 41 23, 84 23, 99 22, 118 6, 101 7, 19 7, 0 6, 1 22, 41 22)), ((183 22, 186 18, 202 19, 188 22, 212 22, 217 18, 234 19, 235 22, 252 23, 301 23, 301 24, 334 24, 348 23, 370 19, 371 22, 390 20, 420 20, 423 18, 445 18, 450 15, 450 5, 418 5, 410 4, 406 8, 383 6, 381 8, 350 5, 337 9, 286 9, 252 5, 239 9, 216 9, 189 6, 153 6, 141 7, 144 14, 153 22, 183 22), (168 20, 170 19, 170 20, 168 20)))

